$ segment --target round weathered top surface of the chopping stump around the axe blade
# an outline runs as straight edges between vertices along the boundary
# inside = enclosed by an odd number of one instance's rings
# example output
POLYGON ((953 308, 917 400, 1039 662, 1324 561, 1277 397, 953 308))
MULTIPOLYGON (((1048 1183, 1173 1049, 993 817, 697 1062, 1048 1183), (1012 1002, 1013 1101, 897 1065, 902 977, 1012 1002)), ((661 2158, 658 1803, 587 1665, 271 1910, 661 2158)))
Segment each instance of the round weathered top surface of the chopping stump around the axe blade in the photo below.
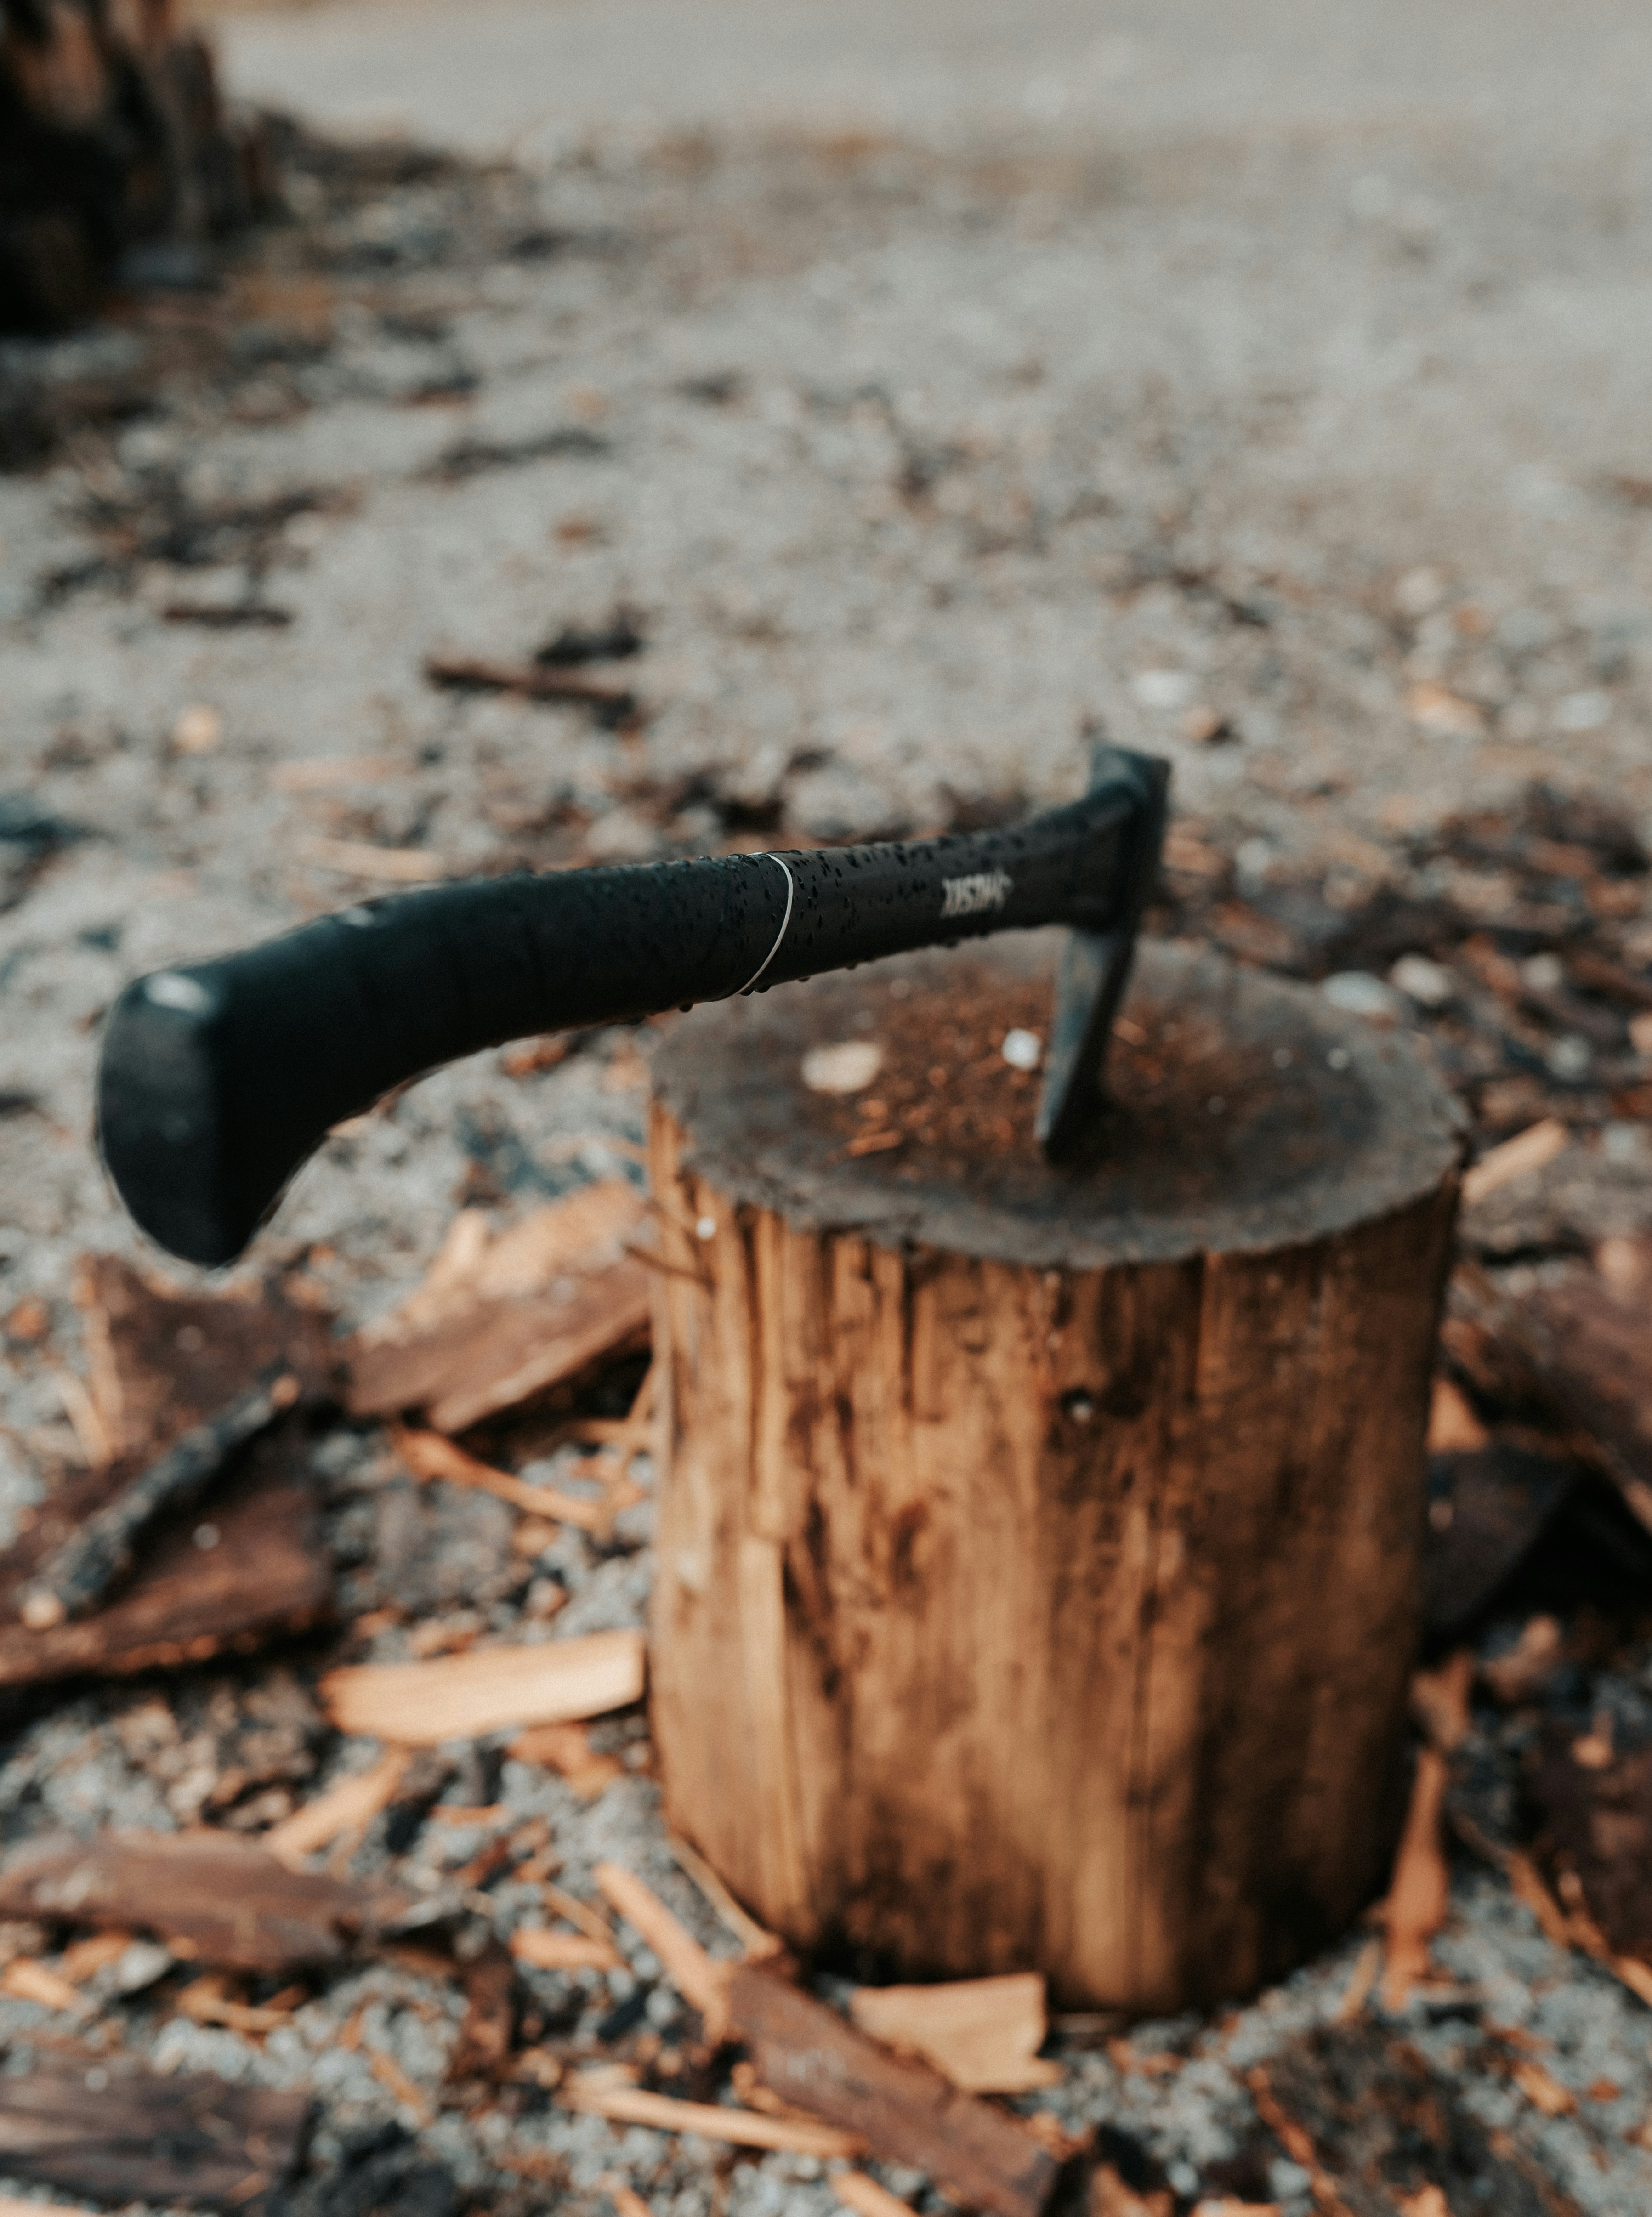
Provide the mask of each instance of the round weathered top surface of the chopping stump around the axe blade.
POLYGON ((1419 1199, 1457 1159, 1455 1108, 1404 1033, 1149 940, 1093 1153, 1051 1168, 1040 1075, 1002 1042, 1049 1033, 1058 953, 1058 933, 1005 933, 698 1009, 654 1055, 690 1166, 816 1230, 1107 1268, 1322 1239, 1419 1199), (803 1058, 840 1042, 874 1046, 876 1075, 814 1091, 803 1058))

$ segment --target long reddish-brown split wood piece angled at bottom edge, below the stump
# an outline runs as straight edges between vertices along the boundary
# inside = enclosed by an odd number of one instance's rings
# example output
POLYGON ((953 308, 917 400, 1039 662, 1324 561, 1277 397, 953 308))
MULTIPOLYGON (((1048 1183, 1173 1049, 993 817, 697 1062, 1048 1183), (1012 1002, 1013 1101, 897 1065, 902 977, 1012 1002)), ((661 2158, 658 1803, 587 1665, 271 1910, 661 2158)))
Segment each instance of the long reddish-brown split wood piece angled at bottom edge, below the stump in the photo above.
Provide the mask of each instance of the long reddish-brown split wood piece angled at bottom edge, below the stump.
POLYGON ((927 2170, 973 2208, 1040 2217, 1058 2164, 1020 2117, 878 2046, 761 1964, 734 1969, 730 2015, 783 2102, 856 2133, 889 2162, 927 2170))

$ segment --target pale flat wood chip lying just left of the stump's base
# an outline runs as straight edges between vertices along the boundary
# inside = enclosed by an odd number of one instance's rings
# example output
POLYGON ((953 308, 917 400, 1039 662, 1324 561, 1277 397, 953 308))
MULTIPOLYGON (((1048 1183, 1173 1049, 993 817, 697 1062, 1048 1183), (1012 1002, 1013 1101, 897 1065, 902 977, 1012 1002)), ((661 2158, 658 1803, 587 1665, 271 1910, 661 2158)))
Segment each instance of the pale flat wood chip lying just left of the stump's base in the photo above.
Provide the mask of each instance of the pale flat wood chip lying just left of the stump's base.
POLYGON ((322 1698, 339 1731, 395 1747, 472 1740, 506 1725, 565 1725, 643 1698, 641 1632, 590 1632, 539 1647, 472 1647, 432 1663, 353 1663, 322 1698))

